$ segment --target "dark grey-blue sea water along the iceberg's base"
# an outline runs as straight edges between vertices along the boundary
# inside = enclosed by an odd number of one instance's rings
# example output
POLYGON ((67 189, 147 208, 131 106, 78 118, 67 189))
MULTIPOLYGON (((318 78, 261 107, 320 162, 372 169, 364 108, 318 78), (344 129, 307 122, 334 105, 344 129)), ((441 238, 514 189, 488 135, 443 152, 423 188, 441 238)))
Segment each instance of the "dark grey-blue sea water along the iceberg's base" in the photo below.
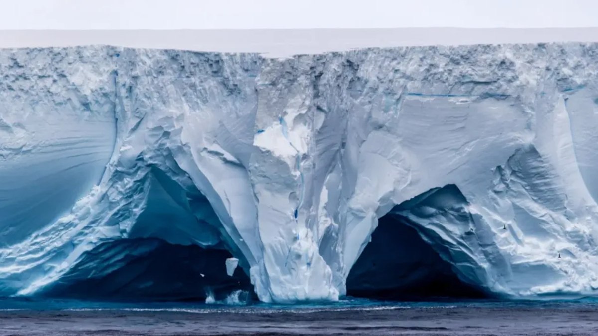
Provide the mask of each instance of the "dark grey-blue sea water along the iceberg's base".
POLYGON ((598 335, 598 301, 231 306, 5 299, 0 335, 598 335))

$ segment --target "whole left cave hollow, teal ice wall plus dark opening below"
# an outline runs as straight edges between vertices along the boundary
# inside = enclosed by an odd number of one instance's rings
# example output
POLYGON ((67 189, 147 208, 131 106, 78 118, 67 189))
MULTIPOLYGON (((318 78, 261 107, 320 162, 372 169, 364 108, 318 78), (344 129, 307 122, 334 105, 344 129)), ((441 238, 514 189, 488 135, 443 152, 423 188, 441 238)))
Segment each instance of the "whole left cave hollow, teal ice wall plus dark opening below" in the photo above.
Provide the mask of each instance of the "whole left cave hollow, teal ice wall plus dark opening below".
MULTIPOLYGON (((170 173, 173 175, 174 173, 170 173)), ((47 297, 105 301, 255 300, 243 270, 228 276, 234 251, 208 198, 152 167, 144 207, 126 239, 84 253, 45 288, 47 297)), ((237 251, 238 252, 238 251, 237 251)), ((236 253, 239 255, 239 253, 236 253)))

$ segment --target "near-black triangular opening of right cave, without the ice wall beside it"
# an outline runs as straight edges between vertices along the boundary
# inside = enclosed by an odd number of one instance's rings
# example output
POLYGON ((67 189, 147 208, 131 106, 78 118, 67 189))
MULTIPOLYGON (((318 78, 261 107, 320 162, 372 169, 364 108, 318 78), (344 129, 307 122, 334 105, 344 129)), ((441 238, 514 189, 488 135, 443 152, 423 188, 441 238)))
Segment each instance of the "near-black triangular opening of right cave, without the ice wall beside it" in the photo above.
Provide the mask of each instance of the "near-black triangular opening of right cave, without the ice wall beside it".
POLYGON ((347 277, 347 295, 416 301, 487 297, 480 289, 462 282, 450 263, 410 224, 396 213, 379 219, 371 242, 347 277))

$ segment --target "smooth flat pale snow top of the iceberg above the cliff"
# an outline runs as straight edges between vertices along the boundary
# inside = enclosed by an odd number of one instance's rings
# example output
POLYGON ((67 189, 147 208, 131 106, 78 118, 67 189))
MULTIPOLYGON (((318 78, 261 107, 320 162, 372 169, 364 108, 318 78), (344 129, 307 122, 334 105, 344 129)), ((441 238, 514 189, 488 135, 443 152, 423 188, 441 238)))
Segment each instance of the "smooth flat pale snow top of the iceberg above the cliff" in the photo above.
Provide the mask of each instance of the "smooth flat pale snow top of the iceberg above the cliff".
POLYGON ((598 42, 598 28, 0 30, 1 48, 108 44, 131 48, 263 53, 266 57, 371 47, 538 42, 598 42))

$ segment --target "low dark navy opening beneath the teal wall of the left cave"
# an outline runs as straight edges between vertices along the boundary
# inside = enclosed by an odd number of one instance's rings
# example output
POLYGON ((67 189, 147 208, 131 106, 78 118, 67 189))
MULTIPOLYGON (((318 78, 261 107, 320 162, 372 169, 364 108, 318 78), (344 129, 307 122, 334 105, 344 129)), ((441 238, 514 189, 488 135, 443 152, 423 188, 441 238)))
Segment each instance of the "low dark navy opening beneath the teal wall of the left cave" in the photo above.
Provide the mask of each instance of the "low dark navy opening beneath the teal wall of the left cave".
POLYGON ((224 300, 242 291, 254 300, 253 287, 241 267, 227 275, 224 249, 173 245, 160 239, 123 239, 87 252, 47 297, 103 301, 206 301, 208 294, 224 300))

